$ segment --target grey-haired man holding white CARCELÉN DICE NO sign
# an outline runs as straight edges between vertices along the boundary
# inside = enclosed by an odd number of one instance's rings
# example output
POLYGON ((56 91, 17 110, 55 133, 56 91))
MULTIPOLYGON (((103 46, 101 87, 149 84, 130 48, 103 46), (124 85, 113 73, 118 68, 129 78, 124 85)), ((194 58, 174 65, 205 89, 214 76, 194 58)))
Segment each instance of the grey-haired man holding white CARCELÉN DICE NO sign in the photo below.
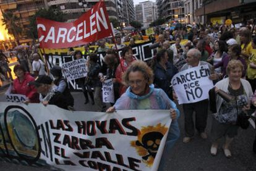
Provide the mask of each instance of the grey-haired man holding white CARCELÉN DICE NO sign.
POLYGON ((208 94, 210 88, 213 87, 213 83, 210 80, 218 79, 218 74, 213 73, 211 64, 200 61, 200 58, 201 52, 198 49, 190 49, 187 52, 187 64, 171 80, 174 91, 176 92, 173 93, 174 99, 179 99, 179 104, 183 104, 186 132, 183 143, 189 143, 194 136, 194 112, 195 128, 200 133, 201 138, 207 138, 205 127, 207 125, 208 96, 205 96, 205 94, 208 94), (203 84, 205 83, 204 77, 206 81, 208 80, 207 84, 203 84), (201 79, 204 79, 204 81, 201 81, 201 79), (181 88, 181 85, 183 88, 181 88))

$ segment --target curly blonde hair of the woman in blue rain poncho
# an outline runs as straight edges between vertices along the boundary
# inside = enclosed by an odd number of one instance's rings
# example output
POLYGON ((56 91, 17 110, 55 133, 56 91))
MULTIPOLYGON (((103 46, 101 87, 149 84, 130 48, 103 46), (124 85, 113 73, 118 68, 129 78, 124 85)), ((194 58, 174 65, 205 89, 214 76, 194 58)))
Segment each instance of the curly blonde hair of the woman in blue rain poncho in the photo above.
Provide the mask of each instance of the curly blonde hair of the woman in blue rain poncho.
POLYGON ((146 62, 142 60, 135 60, 132 64, 128 67, 124 75, 122 76, 122 80, 125 85, 129 85, 129 74, 130 72, 142 72, 145 80, 147 80, 148 85, 153 83, 153 70, 148 67, 146 62))

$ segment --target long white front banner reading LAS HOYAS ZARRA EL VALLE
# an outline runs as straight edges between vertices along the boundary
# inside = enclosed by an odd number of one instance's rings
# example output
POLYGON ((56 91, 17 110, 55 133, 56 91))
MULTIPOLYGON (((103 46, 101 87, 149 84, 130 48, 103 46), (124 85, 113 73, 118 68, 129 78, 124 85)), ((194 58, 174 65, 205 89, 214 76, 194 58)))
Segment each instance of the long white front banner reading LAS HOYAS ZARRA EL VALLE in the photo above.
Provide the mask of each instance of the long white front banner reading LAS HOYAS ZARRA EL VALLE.
POLYGON ((0 157, 54 170, 157 170, 169 110, 72 112, 0 103, 0 157), (153 143, 153 146, 151 145, 153 143))

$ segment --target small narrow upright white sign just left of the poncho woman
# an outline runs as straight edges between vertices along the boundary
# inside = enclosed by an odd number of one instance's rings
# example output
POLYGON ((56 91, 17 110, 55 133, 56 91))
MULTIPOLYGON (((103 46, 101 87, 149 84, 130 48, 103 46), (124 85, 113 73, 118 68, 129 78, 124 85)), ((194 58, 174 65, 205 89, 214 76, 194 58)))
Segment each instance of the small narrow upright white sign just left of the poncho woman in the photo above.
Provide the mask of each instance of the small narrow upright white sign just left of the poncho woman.
POLYGON ((112 79, 105 80, 102 83, 103 102, 114 102, 114 87, 112 79))

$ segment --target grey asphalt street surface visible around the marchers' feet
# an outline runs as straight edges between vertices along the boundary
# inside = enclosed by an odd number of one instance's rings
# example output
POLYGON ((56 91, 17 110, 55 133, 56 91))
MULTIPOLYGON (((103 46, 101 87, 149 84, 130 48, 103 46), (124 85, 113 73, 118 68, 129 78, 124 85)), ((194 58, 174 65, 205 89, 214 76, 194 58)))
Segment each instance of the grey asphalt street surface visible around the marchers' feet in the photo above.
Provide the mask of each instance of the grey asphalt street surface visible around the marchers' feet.
MULTIPOLYGON (((93 111, 93 106, 83 104, 83 94, 79 92, 72 93, 75 99, 75 109, 77 111, 93 111)), ((0 93, 0 101, 5 101, 4 91, 0 93)), ((181 109, 181 107, 179 107, 181 109)), ((249 127, 248 130, 239 130, 238 136, 231 144, 233 157, 227 159, 224 157, 222 149, 219 147, 217 156, 210 154, 210 128, 211 115, 208 116, 207 133, 209 138, 202 140, 199 135, 187 144, 182 143, 184 136, 184 117, 181 111, 179 118, 181 128, 181 137, 177 141, 173 150, 169 152, 169 162, 164 170, 256 170, 256 155, 252 152, 252 143, 255 137, 255 130, 249 127)), ((17 170, 45 170, 35 167, 11 164, 9 162, 0 162, 1 171, 17 170)))

